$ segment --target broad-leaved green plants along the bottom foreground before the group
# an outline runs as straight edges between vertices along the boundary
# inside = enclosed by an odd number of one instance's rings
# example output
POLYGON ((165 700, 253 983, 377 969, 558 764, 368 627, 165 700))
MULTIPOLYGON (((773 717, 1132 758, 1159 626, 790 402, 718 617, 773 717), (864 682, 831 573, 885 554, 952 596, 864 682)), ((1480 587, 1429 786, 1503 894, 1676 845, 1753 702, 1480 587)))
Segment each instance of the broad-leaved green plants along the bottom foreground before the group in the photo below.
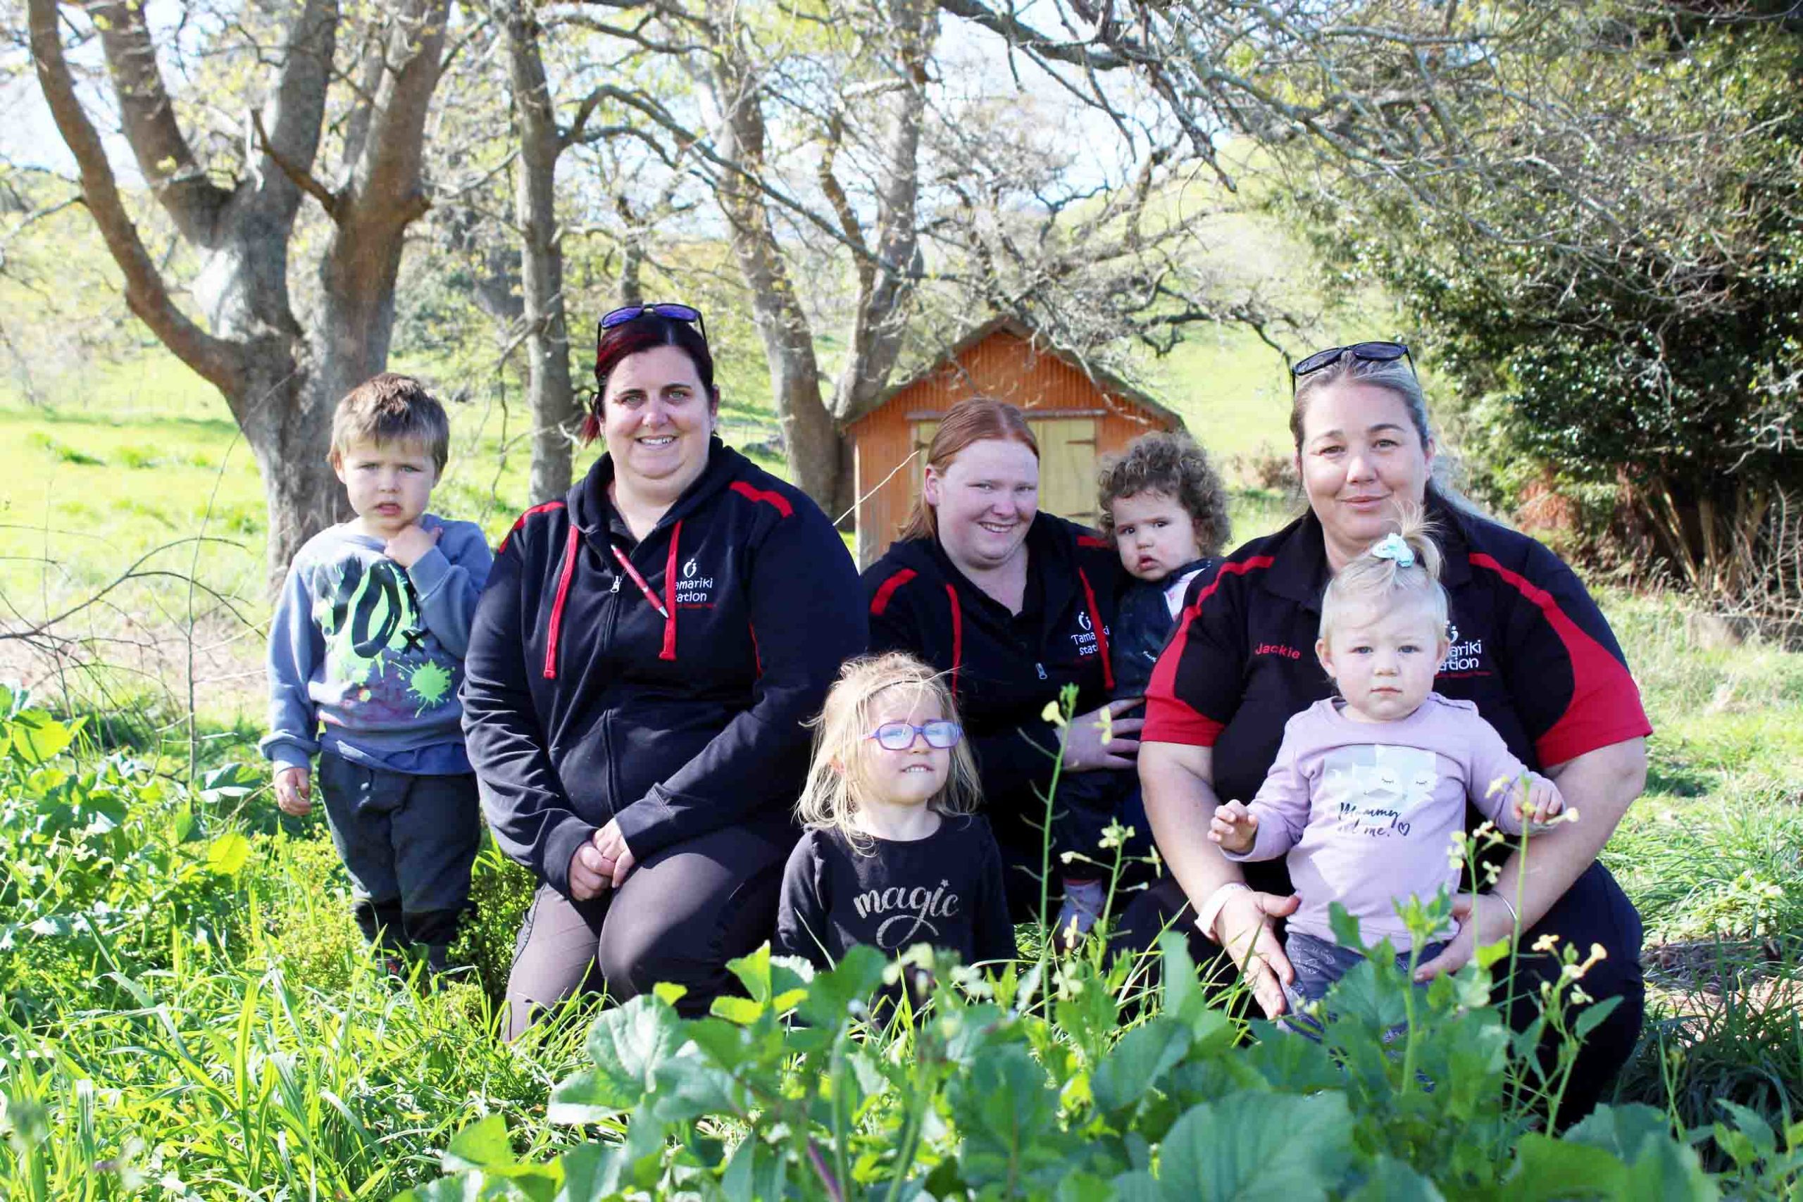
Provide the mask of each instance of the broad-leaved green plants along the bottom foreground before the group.
MULTIPOLYGON (((593 1063, 557 1087, 550 1117, 604 1139, 532 1164, 487 1117, 451 1141, 445 1179, 404 1198, 1718 1193, 1648 1106, 1603 1106, 1556 1139, 1531 1130, 1506 1101, 1520 1040, 1482 1004, 1477 962, 1419 998, 1372 957, 1329 997, 1323 1043, 1262 1022, 1244 1043, 1183 941, 1161 952, 1154 1013, 1123 1024, 1118 980, 1085 959, 979 980, 918 948, 930 1000, 880 1029, 864 998, 896 964, 853 948, 813 973, 763 950, 732 962, 746 997, 709 1018, 678 1018, 660 991, 595 1020, 593 1063), (1408 1034, 1385 1042, 1405 1016, 1408 1034)), ((1709 1135, 1756 1188, 1803 1171, 1803 1125, 1774 1132, 1731 1108, 1709 1135)))

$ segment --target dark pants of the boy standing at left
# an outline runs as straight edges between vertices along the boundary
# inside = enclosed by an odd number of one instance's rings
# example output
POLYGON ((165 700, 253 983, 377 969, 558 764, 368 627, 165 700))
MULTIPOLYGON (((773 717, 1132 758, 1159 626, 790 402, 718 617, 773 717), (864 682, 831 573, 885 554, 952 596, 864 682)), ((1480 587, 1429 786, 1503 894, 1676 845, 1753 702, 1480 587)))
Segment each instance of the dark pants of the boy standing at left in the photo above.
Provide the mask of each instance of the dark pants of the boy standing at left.
POLYGON ((476 775, 415 777, 321 751, 319 793, 364 939, 447 946, 481 845, 476 775))

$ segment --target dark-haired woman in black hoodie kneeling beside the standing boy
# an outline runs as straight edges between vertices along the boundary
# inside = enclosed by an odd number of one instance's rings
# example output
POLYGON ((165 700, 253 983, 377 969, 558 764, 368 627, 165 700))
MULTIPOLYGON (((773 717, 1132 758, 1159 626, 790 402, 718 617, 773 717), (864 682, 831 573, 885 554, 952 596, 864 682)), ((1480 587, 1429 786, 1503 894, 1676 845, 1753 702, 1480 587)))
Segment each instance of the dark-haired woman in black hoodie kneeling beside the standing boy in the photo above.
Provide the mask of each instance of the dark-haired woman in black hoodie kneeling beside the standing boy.
POLYGON ((489 825, 541 881, 508 1038, 586 984, 674 982, 685 1015, 732 988, 775 924, 802 723, 865 645, 833 523, 714 434, 700 312, 608 314, 595 380, 608 454, 501 542, 465 663, 489 825))

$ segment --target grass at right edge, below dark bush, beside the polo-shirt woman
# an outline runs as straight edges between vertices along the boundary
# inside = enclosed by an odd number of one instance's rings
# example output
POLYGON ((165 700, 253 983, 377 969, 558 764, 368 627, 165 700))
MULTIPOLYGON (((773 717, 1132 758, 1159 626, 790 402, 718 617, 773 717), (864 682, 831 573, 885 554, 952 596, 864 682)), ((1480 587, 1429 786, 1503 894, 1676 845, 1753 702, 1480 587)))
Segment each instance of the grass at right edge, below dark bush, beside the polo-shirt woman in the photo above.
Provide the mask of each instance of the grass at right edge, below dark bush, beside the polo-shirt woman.
POLYGON ((1603 856, 1650 944, 1621 1096, 1686 1125, 1724 1101, 1803 1119, 1803 656, 1700 647, 1671 596, 1605 604, 1655 728, 1603 856))

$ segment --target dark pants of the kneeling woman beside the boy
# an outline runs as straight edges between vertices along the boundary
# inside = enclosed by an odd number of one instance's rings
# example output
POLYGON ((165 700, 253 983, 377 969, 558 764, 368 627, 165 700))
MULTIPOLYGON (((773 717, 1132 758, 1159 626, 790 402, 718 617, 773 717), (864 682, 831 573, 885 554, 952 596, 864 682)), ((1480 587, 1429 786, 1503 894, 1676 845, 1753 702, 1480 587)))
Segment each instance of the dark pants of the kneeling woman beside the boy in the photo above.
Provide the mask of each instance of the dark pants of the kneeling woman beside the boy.
POLYGON ((676 1002, 683 1016, 705 1015, 716 997, 736 991, 727 961, 755 952, 775 930, 793 843, 786 827, 728 827, 665 847, 618 890, 588 901, 541 885, 507 979, 507 1038, 537 1011, 602 986, 624 1002, 667 980, 689 989, 676 1002))

